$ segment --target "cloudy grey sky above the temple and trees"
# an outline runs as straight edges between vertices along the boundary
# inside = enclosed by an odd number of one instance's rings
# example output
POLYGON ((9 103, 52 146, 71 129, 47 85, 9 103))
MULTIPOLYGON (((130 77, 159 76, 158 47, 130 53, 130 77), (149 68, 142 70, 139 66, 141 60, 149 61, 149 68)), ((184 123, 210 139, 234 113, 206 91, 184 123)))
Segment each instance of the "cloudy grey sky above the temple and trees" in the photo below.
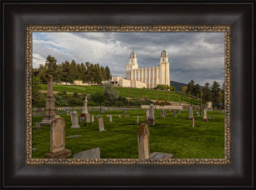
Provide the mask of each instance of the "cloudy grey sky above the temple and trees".
POLYGON ((37 68, 51 55, 57 63, 99 63, 125 77, 132 49, 140 68, 158 66, 165 49, 170 80, 224 82, 224 32, 33 32, 32 63, 37 68))

